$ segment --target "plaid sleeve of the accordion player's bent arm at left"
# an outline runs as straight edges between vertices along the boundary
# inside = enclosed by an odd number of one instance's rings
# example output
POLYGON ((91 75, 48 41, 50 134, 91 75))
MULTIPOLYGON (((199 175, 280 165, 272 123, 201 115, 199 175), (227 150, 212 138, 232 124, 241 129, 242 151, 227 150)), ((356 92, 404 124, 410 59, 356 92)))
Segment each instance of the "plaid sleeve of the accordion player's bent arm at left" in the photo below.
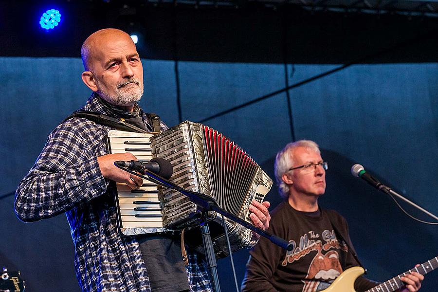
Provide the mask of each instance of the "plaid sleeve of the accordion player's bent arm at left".
POLYGON ((84 119, 71 119, 53 130, 18 185, 14 209, 20 220, 51 218, 105 193, 107 182, 95 147, 100 131, 101 127, 84 119))

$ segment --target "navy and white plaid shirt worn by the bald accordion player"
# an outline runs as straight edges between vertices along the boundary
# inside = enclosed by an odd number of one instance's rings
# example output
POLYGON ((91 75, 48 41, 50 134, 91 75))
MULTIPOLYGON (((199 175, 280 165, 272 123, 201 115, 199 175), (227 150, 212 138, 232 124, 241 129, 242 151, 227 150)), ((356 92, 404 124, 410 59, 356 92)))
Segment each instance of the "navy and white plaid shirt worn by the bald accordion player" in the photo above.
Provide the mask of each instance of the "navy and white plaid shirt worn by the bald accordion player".
MULTIPOLYGON (((81 110, 111 115, 93 94, 81 110)), ((140 115, 152 130, 146 114, 140 115)), ((167 127, 162 124, 162 129, 167 127)), ((108 154, 110 128, 72 118, 49 135, 37 162, 20 182, 15 212, 25 222, 66 213, 74 243, 75 269, 83 291, 149 292, 149 279, 135 237, 121 237, 108 180, 97 157, 108 154)), ((195 254, 186 268, 193 292, 211 291, 195 254)))

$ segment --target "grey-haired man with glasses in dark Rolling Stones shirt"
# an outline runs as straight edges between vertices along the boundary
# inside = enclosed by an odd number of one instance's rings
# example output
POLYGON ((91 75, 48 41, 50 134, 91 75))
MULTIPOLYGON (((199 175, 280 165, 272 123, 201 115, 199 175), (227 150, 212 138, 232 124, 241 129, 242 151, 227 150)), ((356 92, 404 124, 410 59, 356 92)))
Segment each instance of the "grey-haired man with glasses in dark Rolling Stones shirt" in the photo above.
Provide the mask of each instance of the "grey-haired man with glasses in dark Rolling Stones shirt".
MULTIPOLYGON (((318 205, 327 169, 313 141, 289 143, 277 153, 275 178, 285 200, 272 212, 269 231, 292 242, 293 249, 287 252, 261 238, 250 252, 242 292, 322 291, 347 268, 360 266, 347 221, 318 205)), ((414 272, 401 280, 406 286, 399 291, 415 292, 423 276, 414 272)), ((364 292, 376 285, 359 277, 354 289, 364 292)))

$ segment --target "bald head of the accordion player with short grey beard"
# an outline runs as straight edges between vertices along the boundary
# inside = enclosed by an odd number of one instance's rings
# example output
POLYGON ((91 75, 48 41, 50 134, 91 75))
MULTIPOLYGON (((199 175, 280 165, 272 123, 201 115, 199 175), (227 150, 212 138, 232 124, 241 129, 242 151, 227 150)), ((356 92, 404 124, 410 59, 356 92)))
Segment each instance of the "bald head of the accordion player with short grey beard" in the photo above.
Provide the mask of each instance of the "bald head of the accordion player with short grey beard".
POLYGON ((143 65, 131 37, 102 29, 84 41, 81 55, 85 85, 110 104, 132 111, 143 95, 143 65))

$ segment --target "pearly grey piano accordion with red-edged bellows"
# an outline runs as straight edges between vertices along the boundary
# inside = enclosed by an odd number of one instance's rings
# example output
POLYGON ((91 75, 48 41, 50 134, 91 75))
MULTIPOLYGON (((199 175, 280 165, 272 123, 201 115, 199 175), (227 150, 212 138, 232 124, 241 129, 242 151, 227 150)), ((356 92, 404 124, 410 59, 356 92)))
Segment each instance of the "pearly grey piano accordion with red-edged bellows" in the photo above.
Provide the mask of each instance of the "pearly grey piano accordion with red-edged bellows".
MULTIPOLYGON (((211 196, 219 206, 250 223, 252 200, 262 202, 273 181, 233 141, 207 126, 185 121, 159 134, 111 130, 110 153, 131 152, 140 161, 153 157, 173 166, 172 183, 211 196)), ((197 205, 176 190, 144 183, 138 190, 117 185, 118 222, 125 235, 185 231, 185 242, 203 254, 197 205)), ((208 224, 218 257, 229 255, 222 218, 209 212, 208 224)), ((232 252, 251 245, 249 229, 225 218, 232 252)))

